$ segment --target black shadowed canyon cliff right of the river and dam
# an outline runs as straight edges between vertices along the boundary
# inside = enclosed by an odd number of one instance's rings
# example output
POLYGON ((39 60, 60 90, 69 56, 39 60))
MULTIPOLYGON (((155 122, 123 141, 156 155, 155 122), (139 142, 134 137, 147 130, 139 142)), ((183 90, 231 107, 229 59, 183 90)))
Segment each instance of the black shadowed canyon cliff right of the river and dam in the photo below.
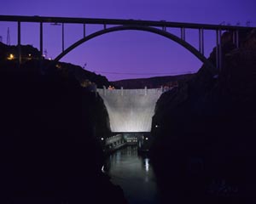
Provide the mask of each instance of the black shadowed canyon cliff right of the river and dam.
POLYGON ((256 32, 238 49, 229 39, 218 78, 203 65, 157 102, 150 153, 166 203, 256 203, 256 32))

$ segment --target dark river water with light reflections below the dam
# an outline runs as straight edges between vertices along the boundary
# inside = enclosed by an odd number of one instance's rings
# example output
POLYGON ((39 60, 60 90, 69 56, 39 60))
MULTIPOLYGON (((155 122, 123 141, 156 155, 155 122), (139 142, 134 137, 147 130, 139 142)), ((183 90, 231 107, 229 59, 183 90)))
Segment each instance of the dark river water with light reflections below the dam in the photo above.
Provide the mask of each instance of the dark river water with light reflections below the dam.
POLYGON ((137 146, 117 150, 109 156, 107 163, 104 170, 113 184, 121 186, 129 203, 160 203, 150 161, 137 155, 137 146))

